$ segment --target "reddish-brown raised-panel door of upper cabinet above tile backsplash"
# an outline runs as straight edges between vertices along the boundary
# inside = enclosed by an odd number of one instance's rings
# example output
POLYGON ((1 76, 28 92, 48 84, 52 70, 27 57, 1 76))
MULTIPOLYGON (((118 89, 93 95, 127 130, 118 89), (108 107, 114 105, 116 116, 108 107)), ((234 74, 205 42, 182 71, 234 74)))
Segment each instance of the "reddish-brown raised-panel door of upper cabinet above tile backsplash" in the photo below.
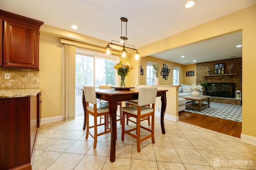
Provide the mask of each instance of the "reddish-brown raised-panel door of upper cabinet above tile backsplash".
POLYGON ((39 29, 4 21, 4 67, 38 69, 39 29))

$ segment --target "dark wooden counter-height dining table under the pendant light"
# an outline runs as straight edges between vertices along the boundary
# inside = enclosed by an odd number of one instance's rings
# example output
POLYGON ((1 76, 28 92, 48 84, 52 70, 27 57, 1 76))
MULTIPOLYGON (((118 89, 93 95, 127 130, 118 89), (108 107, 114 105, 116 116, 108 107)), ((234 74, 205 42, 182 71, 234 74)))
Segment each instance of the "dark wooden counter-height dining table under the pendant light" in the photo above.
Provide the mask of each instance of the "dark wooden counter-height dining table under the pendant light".
MULTIPOLYGON (((82 105, 84 109, 84 126, 86 128, 86 104, 84 97, 84 90, 82 90, 82 105)), ((158 89, 156 97, 161 97, 161 128, 162 134, 165 134, 164 128, 164 113, 166 110, 166 91, 158 89)), ((110 132, 111 132, 111 142, 110 142, 110 162, 114 162, 116 159, 116 111, 117 103, 121 101, 129 101, 138 99, 138 89, 130 90, 115 90, 115 89, 96 89, 96 97, 109 102, 109 117, 110 117, 110 132)))

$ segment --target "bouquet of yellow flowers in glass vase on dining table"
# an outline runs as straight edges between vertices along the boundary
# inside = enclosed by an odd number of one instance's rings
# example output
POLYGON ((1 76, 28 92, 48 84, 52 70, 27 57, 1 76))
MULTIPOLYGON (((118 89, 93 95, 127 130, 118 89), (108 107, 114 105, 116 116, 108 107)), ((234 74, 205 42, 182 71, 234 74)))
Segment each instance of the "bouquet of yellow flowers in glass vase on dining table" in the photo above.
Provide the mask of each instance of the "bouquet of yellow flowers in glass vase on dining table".
POLYGON ((133 66, 126 60, 125 63, 123 61, 120 61, 119 63, 114 65, 114 68, 117 70, 117 74, 121 77, 120 87, 125 87, 125 77, 133 69, 133 66))

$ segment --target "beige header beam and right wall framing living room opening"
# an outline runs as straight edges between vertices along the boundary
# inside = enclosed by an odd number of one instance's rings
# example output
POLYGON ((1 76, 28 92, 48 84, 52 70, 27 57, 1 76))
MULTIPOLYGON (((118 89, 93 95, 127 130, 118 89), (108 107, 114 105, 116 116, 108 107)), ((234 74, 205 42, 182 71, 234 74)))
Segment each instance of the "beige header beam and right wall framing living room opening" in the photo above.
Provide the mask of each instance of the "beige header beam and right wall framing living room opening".
POLYGON ((189 43, 194 43, 208 38, 228 34, 242 30, 242 134, 256 137, 256 114, 252 112, 254 105, 253 96, 256 91, 252 91, 250 86, 256 83, 250 75, 256 72, 256 5, 244 8, 232 14, 228 14, 216 20, 196 26, 184 32, 175 34, 158 42, 151 43, 138 49, 143 56, 172 49, 189 43))

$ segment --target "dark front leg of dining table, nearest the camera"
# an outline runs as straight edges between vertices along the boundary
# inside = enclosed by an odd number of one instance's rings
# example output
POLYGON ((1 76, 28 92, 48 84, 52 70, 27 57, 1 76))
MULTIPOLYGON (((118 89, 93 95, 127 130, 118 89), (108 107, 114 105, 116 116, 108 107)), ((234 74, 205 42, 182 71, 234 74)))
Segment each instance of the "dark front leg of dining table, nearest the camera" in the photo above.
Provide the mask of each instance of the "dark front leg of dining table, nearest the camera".
POLYGON ((111 133, 111 141, 110 141, 110 162, 114 162, 116 160, 116 111, 117 111, 117 101, 112 97, 109 100, 109 119, 110 119, 110 133, 111 133))

